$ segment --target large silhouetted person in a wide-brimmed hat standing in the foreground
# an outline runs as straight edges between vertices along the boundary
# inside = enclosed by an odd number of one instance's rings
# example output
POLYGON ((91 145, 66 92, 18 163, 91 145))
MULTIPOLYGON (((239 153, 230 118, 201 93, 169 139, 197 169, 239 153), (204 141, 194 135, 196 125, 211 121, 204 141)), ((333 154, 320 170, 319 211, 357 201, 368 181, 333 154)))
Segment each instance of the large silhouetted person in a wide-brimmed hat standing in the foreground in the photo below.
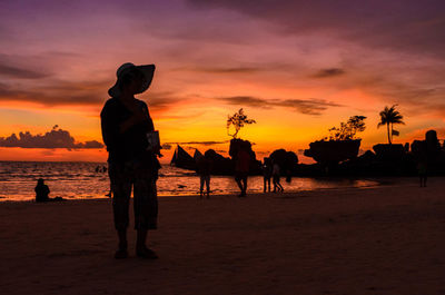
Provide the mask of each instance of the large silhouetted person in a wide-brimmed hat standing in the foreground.
POLYGON ((110 99, 100 114, 103 142, 109 153, 108 174, 112 190, 115 227, 119 237, 115 258, 126 258, 129 204, 134 189, 136 255, 158 256, 146 246, 147 232, 157 228, 158 199, 156 180, 160 168, 159 141, 146 102, 135 95, 148 89, 155 65, 123 63, 117 70, 117 82, 108 90, 110 99))

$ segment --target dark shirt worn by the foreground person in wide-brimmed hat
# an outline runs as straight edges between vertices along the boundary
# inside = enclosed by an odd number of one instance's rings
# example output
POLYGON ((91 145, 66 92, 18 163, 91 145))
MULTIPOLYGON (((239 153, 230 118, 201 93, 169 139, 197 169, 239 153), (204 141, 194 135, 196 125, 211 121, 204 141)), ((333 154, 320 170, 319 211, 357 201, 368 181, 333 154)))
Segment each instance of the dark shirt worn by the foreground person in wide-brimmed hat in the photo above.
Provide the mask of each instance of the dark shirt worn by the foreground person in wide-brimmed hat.
POLYGON ((102 138, 109 153, 108 161, 123 163, 147 154, 147 132, 154 131, 155 127, 146 102, 136 99, 140 108, 147 112, 147 120, 138 122, 125 132, 120 132, 120 126, 131 116, 118 98, 110 98, 100 112, 102 138))

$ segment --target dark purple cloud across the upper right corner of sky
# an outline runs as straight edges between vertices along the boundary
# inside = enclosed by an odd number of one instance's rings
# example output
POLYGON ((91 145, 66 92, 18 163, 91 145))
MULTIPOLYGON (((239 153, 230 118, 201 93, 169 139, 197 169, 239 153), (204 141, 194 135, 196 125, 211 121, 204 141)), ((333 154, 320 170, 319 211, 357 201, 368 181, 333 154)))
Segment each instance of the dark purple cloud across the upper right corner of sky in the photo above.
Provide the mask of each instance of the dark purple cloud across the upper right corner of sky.
POLYGON ((265 20, 283 33, 316 33, 360 43, 444 58, 442 0, 188 0, 195 8, 229 9, 265 20))

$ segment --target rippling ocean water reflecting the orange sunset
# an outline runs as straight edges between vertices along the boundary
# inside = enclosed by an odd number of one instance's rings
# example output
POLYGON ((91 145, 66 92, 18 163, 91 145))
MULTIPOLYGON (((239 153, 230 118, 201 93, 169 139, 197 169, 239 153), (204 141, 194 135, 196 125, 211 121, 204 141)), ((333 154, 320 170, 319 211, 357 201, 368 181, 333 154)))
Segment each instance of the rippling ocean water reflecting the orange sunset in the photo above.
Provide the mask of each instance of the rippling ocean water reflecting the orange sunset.
MULTIPOLYGON (((50 197, 67 199, 107 198, 109 193, 108 173, 96 171, 107 167, 106 163, 44 163, 44 161, 0 161, 0 201, 32 200, 38 178, 49 186, 50 197)), ((199 177, 190 170, 164 165, 157 181, 158 195, 185 196, 199 193, 199 177)), ((368 187, 378 185, 368 179, 329 179, 294 177, 288 184, 281 178, 285 191, 313 190, 343 187, 368 187)), ((212 176, 211 194, 238 194, 233 177, 212 176)), ((263 191, 263 177, 248 179, 247 193, 263 191)))

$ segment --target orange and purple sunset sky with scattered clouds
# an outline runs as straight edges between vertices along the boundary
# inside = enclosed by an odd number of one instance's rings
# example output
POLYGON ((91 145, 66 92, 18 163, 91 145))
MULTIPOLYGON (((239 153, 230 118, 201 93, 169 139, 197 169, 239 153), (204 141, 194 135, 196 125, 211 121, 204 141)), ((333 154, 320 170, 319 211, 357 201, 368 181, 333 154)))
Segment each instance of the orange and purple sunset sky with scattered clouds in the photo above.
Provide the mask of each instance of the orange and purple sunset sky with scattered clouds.
MULTIPOLYGON (((226 120, 258 158, 295 153, 352 116, 362 149, 445 138, 445 2, 0 0, 0 160, 105 161, 100 110, 125 62, 155 63, 150 109, 166 147, 227 155, 226 120)), ((301 159, 301 155, 299 155, 301 159)))

